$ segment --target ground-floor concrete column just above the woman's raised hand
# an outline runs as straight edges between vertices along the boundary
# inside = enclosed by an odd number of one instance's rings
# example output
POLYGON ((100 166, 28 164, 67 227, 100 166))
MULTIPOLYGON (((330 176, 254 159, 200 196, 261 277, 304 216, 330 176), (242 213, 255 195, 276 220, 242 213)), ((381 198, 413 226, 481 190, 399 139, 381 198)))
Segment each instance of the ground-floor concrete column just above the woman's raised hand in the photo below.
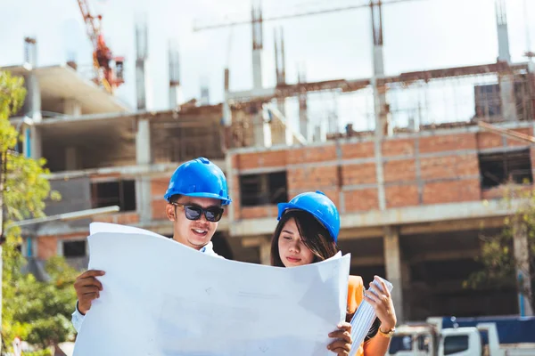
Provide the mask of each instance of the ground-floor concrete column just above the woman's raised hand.
POLYGON ((392 226, 384 228, 384 264, 386 279, 394 286, 391 292, 398 322, 405 320, 403 310, 403 282, 401 278, 401 251, 399 248, 399 229, 392 226))

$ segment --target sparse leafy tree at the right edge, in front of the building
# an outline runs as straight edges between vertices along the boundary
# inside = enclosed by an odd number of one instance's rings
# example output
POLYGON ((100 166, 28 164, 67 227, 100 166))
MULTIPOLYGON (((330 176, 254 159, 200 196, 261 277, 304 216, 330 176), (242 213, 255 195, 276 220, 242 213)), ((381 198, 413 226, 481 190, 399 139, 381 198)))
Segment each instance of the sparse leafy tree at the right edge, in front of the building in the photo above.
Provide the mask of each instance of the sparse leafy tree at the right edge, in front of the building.
POLYGON ((503 229, 493 236, 481 236, 481 254, 477 257, 483 268, 472 273, 465 281, 465 287, 516 287, 535 307, 535 190, 526 186, 510 185, 506 188, 503 203, 513 208, 514 214, 507 216, 503 229), (526 236, 527 247, 522 253, 528 263, 521 263, 514 257, 514 237, 526 236), (517 271, 531 280, 522 283, 517 271))

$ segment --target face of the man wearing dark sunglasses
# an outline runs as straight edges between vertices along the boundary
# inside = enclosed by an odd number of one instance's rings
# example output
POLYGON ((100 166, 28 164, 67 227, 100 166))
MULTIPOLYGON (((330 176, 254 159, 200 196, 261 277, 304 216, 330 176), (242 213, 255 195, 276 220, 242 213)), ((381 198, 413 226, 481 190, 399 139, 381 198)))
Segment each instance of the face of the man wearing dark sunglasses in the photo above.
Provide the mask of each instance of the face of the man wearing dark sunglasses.
POLYGON ((182 205, 200 206, 202 208, 220 207, 221 200, 181 196, 176 202, 180 205, 174 206, 168 203, 166 206, 169 220, 173 222, 173 239, 185 246, 200 250, 210 242, 218 228, 218 223, 209 222, 204 214, 201 215, 199 220, 189 220, 185 217, 185 206, 182 205))

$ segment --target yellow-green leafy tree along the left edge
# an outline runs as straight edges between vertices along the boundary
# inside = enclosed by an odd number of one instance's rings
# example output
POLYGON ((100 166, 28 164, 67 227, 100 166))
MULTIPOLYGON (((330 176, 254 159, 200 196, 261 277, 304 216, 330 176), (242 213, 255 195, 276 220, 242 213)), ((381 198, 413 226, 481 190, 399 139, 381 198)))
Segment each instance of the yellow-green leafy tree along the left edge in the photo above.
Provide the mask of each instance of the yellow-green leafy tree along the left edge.
POLYGON ((0 71, 0 236, 2 261, 2 345, 11 348, 14 336, 38 348, 69 340, 73 328, 69 317, 76 302, 72 288, 76 271, 62 258, 46 263, 50 279, 38 281, 23 274, 26 263, 19 252, 21 230, 12 223, 45 215, 45 199, 59 198, 45 175, 45 159, 25 158, 13 148, 19 133, 9 117, 21 109, 26 91, 23 79, 0 71), (11 225, 11 226, 10 226, 11 225))

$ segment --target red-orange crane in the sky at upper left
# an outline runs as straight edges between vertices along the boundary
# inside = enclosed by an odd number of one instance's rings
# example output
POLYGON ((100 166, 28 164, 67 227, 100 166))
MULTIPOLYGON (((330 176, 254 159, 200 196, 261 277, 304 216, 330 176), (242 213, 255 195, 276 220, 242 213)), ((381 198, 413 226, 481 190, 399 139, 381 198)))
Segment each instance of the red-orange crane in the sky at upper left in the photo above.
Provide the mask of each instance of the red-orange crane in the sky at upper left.
POLYGON ((87 0, 77 0, 80 12, 86 23, 87 36, 93 44, 93 67, 96 76, 94 81, 103 85, 108 93, 113 93, 115 88, 123 84, 124 58, 113 57, 110 47, 104 41, 102 33, 102 15, 93 16, 89 10, 87 0))

